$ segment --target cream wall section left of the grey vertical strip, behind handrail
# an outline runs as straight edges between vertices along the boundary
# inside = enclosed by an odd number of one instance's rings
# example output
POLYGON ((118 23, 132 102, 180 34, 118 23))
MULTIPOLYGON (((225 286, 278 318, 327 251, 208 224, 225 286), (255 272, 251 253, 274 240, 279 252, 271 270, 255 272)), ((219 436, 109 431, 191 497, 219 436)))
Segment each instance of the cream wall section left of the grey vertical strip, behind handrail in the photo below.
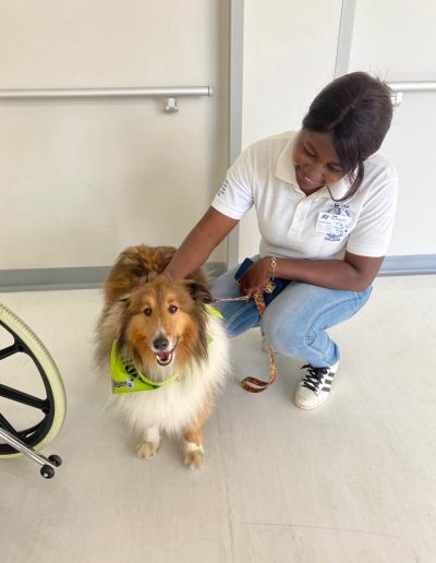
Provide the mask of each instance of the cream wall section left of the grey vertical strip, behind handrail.
MULTIPOLYGON (((211 98, 0 101, 0 268, 179 244, 227 169, 228 1, 0 4, 0 88, 210 85, 211 98)), ((223 248, 213 260, 225 260, 223 248)))

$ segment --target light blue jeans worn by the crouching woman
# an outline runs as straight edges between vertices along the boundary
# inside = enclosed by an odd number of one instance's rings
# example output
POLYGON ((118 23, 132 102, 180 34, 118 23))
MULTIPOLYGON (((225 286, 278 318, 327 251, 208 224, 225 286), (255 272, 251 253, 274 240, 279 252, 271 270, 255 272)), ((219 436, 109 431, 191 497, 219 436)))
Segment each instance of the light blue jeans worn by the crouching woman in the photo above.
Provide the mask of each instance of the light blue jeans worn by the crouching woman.
MULTIPOLYGON (((253 260, 258 259, 255 256, 253 260)), ((214 297, 239 297, 234 279, 239 266, 217 278, 211 287, 214 297)), ((370 299, 365 291, 327 289, 300 282, 290 284, 259 315, 253 299, 225 301, 217 304, 230 337, 249 328, 261 327, 271 347, 284 356, 304 360, 314 368, 330 367, 340 358, 338 345, 326 330, 355 314, 370 299)))

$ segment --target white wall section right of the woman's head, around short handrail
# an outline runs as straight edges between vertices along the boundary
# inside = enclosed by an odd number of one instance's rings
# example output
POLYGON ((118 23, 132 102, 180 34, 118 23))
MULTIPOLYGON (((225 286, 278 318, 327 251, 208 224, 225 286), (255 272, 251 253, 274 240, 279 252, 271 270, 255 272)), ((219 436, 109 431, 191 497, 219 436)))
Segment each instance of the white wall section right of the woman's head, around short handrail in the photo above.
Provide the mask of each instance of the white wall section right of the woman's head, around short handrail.
MULTIPOLYGON (((436 81, 435 29, 435 0, 358 0, 350 70, 436 81)), ((435 147, 436 92, 404 93, 383 146, 400 180, 391 255, 436 254, 435 147)))

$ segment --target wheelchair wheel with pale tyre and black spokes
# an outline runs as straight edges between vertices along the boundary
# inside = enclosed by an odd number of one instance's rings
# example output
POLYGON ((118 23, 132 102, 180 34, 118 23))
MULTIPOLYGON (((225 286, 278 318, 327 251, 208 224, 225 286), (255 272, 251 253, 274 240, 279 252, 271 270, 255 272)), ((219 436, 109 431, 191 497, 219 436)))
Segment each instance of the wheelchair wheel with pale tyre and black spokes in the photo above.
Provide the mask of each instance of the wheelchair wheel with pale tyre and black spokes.
MULTIPOLYGON (((52 357, 36 334, 1 303, 0 332, 13 340, 5 347, 0 340, 0 427, 27 446, 39 451, 55 439, 65 418, 66 398, 62 379, 52 357), (31 372, 27 376, 28 388, 20 386, 21 364, 25 364, 24 371, 31 372), (3 384, 3 368, 7 384, 3 384)), ((0 439, 1 457, 19 455, 22 454, 11 445, 1 443, 0 439)))

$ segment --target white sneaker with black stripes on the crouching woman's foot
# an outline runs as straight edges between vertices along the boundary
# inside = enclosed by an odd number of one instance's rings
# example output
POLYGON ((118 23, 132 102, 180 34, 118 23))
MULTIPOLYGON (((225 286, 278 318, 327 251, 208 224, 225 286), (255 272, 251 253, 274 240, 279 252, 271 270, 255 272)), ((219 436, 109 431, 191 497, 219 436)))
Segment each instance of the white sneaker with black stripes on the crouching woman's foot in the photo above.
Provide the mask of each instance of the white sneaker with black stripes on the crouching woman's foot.
POLYGON ((320 407, 329 397, 331 383, 339 362, 330 368, 314 368, 311 364, 303 366, 306 374, 298 384, 293 402, 300 408, 312 409, 320 407))

